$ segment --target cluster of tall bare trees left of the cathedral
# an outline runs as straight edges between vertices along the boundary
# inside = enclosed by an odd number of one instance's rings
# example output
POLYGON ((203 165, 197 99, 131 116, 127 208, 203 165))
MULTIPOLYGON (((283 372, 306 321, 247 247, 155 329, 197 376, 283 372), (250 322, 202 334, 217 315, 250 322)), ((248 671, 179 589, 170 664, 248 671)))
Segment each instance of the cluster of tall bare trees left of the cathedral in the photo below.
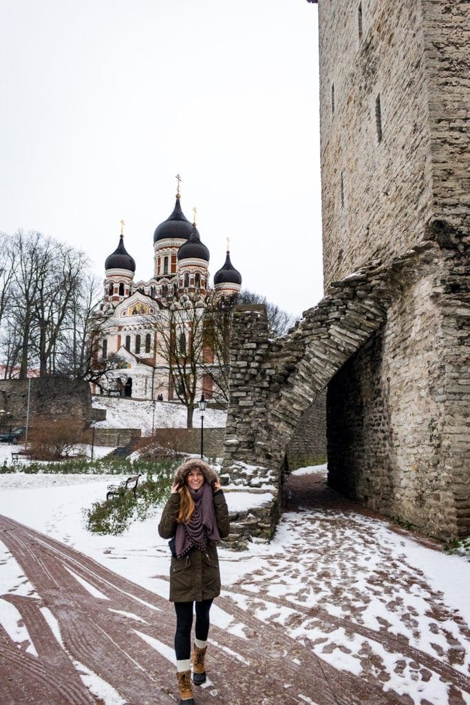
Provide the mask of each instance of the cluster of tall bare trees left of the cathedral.
POLYGON ((0 244, 6 253, 0 267, 5 376, 17 366, 24 379, 28 368, 38 366, 41 376, 65 373, 86 379, 93 364, 91 328, 97 323, 92 311, 99 296, 97 281, 87 274, 87 258, 35 231, 0 235, 0 244))

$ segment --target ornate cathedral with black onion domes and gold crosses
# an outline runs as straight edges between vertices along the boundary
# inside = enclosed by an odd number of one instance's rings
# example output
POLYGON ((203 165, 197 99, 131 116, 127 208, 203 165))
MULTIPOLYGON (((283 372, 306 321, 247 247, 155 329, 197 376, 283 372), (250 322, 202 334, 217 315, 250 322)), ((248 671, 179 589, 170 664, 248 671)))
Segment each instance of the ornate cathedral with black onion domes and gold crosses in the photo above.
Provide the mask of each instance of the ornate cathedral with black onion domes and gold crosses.
MULTIPOLYGON (((93 393, 139 400, 181 398, 169 359, 175 356, 175 345, 194 350, 192 336, 202 336, 194 332, 195 323, 206 302, 223 305, 240 292, 242 277, 230 262, 228 249, 211 285, 209 250, 197 230, 195 209, 192 223, 183 214, 177 178, 173 212, 154 232, 154 274, 149 281, 134 281, 135 260, 124 247, 122 227, 118 247, 104 263, 104 298, 94 324, 95 362, 104 372, 100 384, 92 384, 93 393), (111 364, 106 365, 107 360, 111 364)), ((206 342, 198 349, 191 372, 195 398, 204 393, 211 399, 217 391, 217 359, 206 342)), ((185 376, 181 379, 184 384, 185 376)))

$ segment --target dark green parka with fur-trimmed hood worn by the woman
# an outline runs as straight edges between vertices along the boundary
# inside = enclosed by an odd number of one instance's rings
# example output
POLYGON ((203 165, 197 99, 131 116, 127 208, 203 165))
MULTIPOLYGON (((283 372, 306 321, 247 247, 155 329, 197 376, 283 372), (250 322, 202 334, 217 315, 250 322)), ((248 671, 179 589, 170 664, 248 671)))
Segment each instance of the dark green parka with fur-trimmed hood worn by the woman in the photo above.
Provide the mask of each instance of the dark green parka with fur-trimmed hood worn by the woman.
MULTIPOLYGON (((175 475, 175 482, 181 482, 192 467, 198 467, 204 473, 204 482, 212 484, 216 474, 202 460, 190 460, 175 475), (183 471, 183 472, 182 472, 183 471), (185 472, 186 471, 186 472, 185 472)), ((230 522, 228 508, 223 491, 219 489, 213 495, 216 522, 221 539, 228 536, 230 522)), ((176 533, 180 495, 171 494, 166 503, 159 524, 162 539, 173 539, 176 533)), ((169 552, 169 551, 168 551, 169 552)), ((208 544, 204 553, 199 548, 192 548, 182 558, 171 557, 170 567, 170 601, 200 602, 214 599, 221 594, 221 573, 218 567, 218 554, 215 544, 208 544)))

